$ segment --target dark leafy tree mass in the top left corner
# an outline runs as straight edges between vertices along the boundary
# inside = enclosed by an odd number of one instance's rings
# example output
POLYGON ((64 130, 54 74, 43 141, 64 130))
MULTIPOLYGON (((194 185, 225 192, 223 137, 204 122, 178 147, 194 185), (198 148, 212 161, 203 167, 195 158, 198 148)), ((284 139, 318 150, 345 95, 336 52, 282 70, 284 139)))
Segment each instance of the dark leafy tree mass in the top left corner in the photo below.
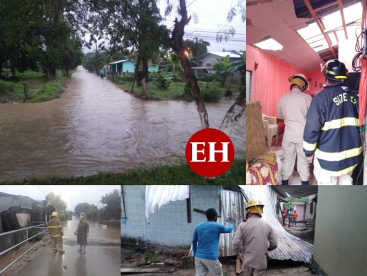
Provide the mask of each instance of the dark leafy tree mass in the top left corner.
POLYGON ((0 3, 0 76, 7 63, 12 75, 16 70, 37 70, 64 75, 81 63, 81 39, 74 8, 78 1, 1 1, 0 3))

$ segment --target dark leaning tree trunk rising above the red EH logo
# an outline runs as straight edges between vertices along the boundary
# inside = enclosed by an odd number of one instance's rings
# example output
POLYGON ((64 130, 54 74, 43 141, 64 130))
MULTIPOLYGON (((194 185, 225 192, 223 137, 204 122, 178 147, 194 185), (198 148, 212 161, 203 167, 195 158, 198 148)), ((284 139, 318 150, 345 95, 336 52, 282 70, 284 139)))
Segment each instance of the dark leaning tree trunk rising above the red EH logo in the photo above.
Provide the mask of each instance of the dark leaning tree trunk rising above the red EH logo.
POLYGON ((195 100, 196 108, 198 109, 200 116, 201 128, 209 128, 207 109, 205 108, 204 101, 202 101, 198 81, 191 69, 189 59, 187 58, 187 55, 185 55, 185 48, 183 46, 183 36, 185 34, 184 29, 191 19, 191 17, 187 18, 185 0, 180 0, 180 13, 181 20, 178 21, 178 19, 176 18, 174 30, 172 31, 172 37, 171 39, 169 39, 169 43, 171 45, 171 48, 176 52, 176 55, 178 55, 178 59, 180 59, 180 63, 182 68, 184 69, 187 81, 189 81, 190 83, 191 92, 193 93, 193 99, 195 100))

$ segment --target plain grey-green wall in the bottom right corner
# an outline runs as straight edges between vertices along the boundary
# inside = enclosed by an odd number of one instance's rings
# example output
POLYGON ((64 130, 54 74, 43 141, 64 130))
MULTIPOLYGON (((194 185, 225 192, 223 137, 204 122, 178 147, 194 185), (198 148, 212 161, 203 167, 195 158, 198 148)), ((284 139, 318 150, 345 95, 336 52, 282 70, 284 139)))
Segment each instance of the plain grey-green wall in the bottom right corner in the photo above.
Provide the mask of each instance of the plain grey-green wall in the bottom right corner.
POLYGON ((319 186, 313 259, 328 276, 367 275, 367 186, 319 186))

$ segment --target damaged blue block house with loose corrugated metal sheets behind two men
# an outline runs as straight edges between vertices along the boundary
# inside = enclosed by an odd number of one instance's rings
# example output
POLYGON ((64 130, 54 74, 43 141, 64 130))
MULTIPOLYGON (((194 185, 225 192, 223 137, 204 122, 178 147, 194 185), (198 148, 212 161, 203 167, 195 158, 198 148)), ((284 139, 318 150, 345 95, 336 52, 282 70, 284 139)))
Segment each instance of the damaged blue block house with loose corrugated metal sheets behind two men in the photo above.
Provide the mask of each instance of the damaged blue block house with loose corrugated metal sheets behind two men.
MULTIPOLYGON (((196 224, 207 220, 205 210, 216 208, 218 222, 244 220, 251 197, 265 204, 264 219, 274 228, 280 245, 271 259, 307 262, 313 246, 284 230, 277 219, 277 194, 273 186, 122 186, 121 237, 140 242, 190 248, 196 224)), ((220 235, 219 256, 232 256, 235 233, 220 235)))

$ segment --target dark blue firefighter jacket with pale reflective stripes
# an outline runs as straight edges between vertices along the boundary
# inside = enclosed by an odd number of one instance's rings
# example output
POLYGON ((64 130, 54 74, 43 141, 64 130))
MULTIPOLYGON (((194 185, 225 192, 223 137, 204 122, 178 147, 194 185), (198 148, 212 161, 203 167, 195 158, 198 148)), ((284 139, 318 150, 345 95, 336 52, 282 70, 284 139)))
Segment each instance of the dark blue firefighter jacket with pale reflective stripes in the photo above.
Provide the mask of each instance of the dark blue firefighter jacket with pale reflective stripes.
POLYGON ((361 161, 358 95, 344 86, 328 86, 311 102, 304 128, 304 152, 315 154, 323 170, 338 177, 361 161))

